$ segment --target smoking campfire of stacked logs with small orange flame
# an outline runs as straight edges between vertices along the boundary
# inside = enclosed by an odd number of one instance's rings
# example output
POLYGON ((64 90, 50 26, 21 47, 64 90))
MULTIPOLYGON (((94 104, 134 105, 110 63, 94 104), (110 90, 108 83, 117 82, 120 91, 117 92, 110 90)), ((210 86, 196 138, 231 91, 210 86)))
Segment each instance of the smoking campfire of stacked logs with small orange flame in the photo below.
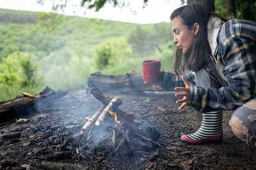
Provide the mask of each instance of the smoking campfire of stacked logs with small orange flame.
POLYGON ((97 110, 74 138, 91 146, 103 147, 115 155, 133 155, 135 152, 146 153, 161 146, 157 139, 159 132, 155 127, 139 127, 135 116, 127 114, 119 106, 121 97, 110 99, 97 88, 90 93, 102 106, 97 110))

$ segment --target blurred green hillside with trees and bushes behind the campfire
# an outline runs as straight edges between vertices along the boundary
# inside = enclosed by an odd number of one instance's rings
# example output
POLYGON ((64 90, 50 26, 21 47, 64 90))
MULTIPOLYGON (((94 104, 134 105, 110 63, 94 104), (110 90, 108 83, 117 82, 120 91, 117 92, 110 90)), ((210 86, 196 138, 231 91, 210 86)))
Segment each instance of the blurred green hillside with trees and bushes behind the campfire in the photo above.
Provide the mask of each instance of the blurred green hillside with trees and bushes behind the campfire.
MULTIPOLYGON (((32 15, 0 9, 1 13, 18 13, 21 18, 32 15)), ((141 25, 65 18, 68 22, 57 32, 36 29, 36 24, 31 22, 0 22, 1 68, 6 67, 7 59, 11 63, 9 72, 0 68, 4 74, 1 76, 0 100, 24 91, 38 93, 45 86, 56 90, 82 88, 86 86, 88 76, 96 71, 110 75, 124 75, 133 70, 141 72, 143 60, 159 59, 162 69, 172 68, 174 47, 170 45, 173 40, 170 23, 141 25), (137 26, 146 38, 137 33, 137 26), (135 51, 132 46, 139 41, 140 47, 135 51)))

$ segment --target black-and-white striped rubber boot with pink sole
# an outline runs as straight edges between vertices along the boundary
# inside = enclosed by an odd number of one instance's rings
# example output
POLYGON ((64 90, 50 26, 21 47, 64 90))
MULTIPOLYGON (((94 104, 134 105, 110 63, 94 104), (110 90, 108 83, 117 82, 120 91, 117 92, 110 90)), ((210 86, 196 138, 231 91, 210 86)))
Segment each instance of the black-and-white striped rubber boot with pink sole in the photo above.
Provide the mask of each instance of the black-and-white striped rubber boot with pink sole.
POLYGON ((181 141, 196 145, 222 140, 222 111, 208 112, 202 115, 203 121, 198 131, 190 135, 182 135, 181 141))

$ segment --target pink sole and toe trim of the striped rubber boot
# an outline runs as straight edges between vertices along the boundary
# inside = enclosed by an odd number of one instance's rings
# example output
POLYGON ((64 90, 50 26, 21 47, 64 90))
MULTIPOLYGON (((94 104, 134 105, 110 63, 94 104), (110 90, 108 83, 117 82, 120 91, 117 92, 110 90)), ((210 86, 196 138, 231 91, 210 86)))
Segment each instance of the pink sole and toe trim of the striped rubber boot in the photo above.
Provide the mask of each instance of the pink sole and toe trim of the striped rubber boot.
POLYGON ((218 135, 218 136, 214 136, 214 137, 207 137, 204 139, 190 139, 184 135, 181 136, 181 141, 185 142, 187 144, 193 144, 193 145, 199 145, 199 144, 205 144, 208 142, 220 142, 223 139, 223 135, 218 135))

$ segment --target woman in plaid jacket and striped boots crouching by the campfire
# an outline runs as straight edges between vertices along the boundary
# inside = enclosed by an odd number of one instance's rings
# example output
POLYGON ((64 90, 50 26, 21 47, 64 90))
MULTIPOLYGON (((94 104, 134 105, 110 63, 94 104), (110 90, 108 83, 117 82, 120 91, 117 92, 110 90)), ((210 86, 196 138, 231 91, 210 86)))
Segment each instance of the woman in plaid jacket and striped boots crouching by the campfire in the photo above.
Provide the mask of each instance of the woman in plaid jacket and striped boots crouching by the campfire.
POLYGON ((191 106, 203 115, 199 130, 181 141, 221 141, 222 110, 235 110, 229 125, 237 137, 256 141, 256 23, 224 20, 193 4, 173 11, 171 25, 177 76, 161 71, 160 86, 182 92, 175 94, 183 97, 179 110, 191 106))

